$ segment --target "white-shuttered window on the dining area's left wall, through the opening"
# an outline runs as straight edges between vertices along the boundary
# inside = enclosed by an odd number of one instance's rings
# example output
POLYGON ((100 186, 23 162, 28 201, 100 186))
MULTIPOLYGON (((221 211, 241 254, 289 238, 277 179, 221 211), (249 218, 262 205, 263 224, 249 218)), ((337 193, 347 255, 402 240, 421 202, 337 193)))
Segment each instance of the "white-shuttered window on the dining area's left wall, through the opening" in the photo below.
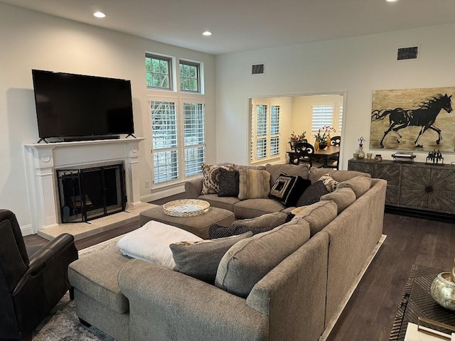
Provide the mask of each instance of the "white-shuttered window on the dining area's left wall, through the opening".
POLYGON ((251 115, 251 160, 262 161, 279 155, 279 105, 253 103, 251 115))

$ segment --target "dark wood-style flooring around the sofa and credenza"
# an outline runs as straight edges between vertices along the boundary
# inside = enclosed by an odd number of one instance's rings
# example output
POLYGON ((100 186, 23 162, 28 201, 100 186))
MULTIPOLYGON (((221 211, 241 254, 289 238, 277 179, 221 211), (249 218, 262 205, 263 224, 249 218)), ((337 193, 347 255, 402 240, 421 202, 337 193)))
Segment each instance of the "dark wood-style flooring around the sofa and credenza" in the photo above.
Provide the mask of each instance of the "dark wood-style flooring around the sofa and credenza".
MULTIPOLYGON (((80 239, 77 249, 117 237, 139 227, 139 222, 80 239)), ((455 257, 455 222, 385 214, 384 244, 365 272, 328 341, 387 341, 412 264, 450 270, 455 257)), ((28 245, 45 244, 36 235, 28 245)))

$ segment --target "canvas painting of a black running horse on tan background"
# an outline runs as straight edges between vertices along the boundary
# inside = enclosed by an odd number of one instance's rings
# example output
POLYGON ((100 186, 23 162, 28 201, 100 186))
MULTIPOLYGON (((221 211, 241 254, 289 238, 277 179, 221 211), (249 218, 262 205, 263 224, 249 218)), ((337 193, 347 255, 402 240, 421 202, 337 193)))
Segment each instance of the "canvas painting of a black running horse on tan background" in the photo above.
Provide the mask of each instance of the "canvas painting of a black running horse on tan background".
POLYGON ((375 90, 370 148, 455 151, 455 87, 375 90))

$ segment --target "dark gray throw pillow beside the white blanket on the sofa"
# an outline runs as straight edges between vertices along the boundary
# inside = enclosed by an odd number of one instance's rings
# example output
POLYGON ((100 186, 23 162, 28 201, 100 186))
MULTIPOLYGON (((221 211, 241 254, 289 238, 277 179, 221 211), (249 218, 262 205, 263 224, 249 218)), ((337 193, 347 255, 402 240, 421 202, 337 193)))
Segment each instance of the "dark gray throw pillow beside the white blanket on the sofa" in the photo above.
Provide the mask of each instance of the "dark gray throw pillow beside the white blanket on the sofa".
POLYGON ((218 264, 226 251, 238 241, 251 236, 252 232, 247 232, 233 237, 171 244, 169 247, 176 262, 175 270, 201 281, 213 283, 218 264))

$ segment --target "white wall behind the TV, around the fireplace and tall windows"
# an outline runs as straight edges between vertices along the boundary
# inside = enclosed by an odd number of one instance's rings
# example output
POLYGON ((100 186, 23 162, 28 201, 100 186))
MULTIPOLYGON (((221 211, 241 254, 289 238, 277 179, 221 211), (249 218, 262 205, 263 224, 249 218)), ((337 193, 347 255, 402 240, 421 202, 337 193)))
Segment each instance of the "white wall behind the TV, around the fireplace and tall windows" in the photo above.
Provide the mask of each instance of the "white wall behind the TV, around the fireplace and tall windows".
MULTIPOLYGON (((215 57, 151 40, 0 4, 0 208, 13 211, 23 231, 31 224, 23 144, 38 141, 31 69, 132 81, 135 135, 140 146, 141 198, 151 193, 151 141, 144 53, 204 63, 208 162, 215 162, 215 57)), ((153 193, 152 193, 153 194, 153 193)))

